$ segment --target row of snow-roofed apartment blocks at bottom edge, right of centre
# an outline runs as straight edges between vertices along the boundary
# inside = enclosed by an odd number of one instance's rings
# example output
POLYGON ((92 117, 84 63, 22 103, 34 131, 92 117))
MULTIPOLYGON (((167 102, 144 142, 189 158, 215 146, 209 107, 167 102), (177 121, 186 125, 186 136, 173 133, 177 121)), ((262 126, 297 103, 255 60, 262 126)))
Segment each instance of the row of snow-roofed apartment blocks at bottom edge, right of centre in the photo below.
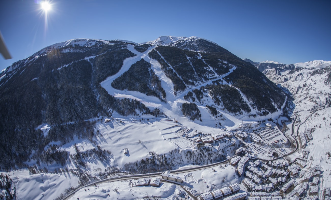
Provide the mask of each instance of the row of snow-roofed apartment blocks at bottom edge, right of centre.
MULTIPOLYGON (((238 193, 240 191, 240 187, 237 183, 229 185, 227 187, 223 187, 221 189, 216 189, 211 192, 206 192, 198 196, 200 200, 218 200, 224 199, 232 194, 238 193)), ((246 196, 241 196, 238 199, 245 199, 246 196)))

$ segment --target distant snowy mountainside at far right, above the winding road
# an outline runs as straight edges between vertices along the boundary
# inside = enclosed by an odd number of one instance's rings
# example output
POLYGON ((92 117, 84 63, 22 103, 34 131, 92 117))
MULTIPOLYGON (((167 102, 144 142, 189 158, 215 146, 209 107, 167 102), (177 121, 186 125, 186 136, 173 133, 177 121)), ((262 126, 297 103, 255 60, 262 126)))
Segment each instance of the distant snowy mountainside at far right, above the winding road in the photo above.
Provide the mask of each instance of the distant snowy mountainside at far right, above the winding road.
POLYGON ((287 66, 265 69, 263 73, 274 83, 289 90, 299 108, 312 109, 316 106, 330 106, 331 61, 314 60, 287 66))

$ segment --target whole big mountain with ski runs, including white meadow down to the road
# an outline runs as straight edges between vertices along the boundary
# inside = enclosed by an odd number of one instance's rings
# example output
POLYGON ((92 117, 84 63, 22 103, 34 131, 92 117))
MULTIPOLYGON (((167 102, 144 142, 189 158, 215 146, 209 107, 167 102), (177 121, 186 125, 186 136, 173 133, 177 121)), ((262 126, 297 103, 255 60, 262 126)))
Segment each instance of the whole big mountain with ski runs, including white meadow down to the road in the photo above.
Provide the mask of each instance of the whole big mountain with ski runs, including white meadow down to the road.
MULTIPOLYGON (((37 198, 52 188, 63 192, 57 181, 75 187, 117 173, 221 161, 223 146, 206 150, 207 160, 176 133, 216 136, 266 120, 280 125, 289 120, 288 98, 254 65, 206 39, 73 39, 0 73, 0 167, 28 169, 12 174, 21 188, 29 173, 37 174, 37 198), (74 178, 64 181, 62 173, 74 178)), ((224 145, 235 146, 231 141, 224 145)), ((54 191, 47 198, 59 196, 54 191)))

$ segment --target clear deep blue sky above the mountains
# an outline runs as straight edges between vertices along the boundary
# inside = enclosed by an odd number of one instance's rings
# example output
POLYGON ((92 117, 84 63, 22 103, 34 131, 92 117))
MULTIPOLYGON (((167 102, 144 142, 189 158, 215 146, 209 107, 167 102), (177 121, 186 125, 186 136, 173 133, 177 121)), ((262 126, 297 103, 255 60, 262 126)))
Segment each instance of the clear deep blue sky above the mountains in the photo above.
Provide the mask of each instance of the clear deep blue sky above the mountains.
POLYGON ((286 64, 331 60, 330 0, 1 0, 0 30, 13 59, 74 38, 137 43, 159 36, 198 36, 241 58, 286 64))

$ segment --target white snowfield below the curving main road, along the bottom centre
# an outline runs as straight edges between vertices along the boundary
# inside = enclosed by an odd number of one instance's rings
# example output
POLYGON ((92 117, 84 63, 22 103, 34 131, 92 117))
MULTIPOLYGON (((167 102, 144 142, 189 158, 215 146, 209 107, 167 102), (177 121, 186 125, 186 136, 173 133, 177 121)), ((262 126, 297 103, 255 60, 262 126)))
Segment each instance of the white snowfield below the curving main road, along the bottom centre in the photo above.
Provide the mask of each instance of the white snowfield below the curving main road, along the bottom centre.
POLYGON ((153 186, 137 186, 132 187, 132 180, 117 181, 111 183, 96 184, 80 189, 76 194, 71 196, 74 199, 142 199, 152 198, 157 199, 176 199, 179 197, 188 197, 183 187, 191 194, 198 196, 207 191, 212 191, 218 188, 228 186, 233 183, 238 183, 239 179, 235 173, 235 169, 231 165, 219 165, 213 168, 206 168, 189 173, 176 174, 183 178, 185 184, 183 186, 161 182, 160 187, 153 186), (180 195, 177 191, 180 190, 180 195))

